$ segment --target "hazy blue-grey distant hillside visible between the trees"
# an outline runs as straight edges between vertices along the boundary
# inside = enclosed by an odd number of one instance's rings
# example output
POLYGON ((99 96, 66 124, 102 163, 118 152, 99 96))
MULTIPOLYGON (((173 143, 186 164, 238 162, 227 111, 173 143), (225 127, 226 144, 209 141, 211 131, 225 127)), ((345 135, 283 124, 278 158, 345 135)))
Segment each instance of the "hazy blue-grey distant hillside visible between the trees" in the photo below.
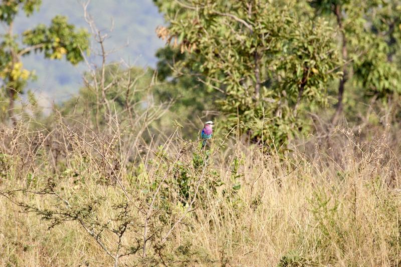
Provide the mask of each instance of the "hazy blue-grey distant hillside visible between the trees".
MULTIPOLYGON (((39 12, 26 18, 20 16, 15 21, 15 29, 21 33, 43 23, 49 24, 56 15, 64 15, 77 27, 87 27, 83 18, 83 9, 78 0, 43 0, 39 12)), ((112 60, 124 59, 139 65, 155 65, 155 51, 163 46, 163 42, 155 35, 155 28, 163 24, 162 15, 151 0, 92 0, 89 12, 94 17, 98 28, 109 29, 112 18, 114 30, 107 47, 118 48, 129 41, 127 47, 110 56, 112 60)), ((38 80, 30 83, 29 88, 42 94, 48 101, 60 102, 75 94, 81 82, 81 74, 86 69, 85 64, 72 66, 65 61, 45 60, 43 55, 30 55, 23 60, 27 69, 35 69, 38 80)))

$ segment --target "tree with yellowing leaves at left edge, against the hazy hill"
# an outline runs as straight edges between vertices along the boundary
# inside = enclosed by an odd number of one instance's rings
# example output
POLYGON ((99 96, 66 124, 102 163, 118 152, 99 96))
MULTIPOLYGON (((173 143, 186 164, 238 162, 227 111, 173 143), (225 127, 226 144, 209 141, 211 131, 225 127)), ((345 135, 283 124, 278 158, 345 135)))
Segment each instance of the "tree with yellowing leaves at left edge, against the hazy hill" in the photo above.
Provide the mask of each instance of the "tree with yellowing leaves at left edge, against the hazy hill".
MULTIPOLYGON (((83 60, 82 52, 88 50, 88 33, 68 24, 67 18, 56 16, 50 26, 38 25, 22 36, 13 33, 13 23, 22 10, 30 16, 38 10, 41 0, 5 0, 0 3, 0 22, 8 31, 0 35, 0 79, 9 100, 9 116, 13 119, 14 101, 22 93, 33 73, 24 69, 21 58, 31 52, 43 52, 45 58, 61 60, 64 56, 72 64, 83 60)), ((13 119, 15 122, 15 119, 13 119)))

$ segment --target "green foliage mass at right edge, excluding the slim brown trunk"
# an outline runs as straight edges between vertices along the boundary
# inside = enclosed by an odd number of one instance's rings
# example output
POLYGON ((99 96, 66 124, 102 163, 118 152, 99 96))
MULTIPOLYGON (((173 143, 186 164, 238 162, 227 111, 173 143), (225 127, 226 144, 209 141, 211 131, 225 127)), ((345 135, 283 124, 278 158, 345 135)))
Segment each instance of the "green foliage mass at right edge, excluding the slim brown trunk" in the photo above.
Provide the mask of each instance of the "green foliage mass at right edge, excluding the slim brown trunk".
POLYGON ((401 92, 400 55, 397 53, 401 45, 401 2, 372 2, 363 14, 367 17, 365 23, 371 23, 371 27, 360 30, 364 30, 358 44, 363 54, 355 59, 353 68, 366 95, 387 97, 401 92))

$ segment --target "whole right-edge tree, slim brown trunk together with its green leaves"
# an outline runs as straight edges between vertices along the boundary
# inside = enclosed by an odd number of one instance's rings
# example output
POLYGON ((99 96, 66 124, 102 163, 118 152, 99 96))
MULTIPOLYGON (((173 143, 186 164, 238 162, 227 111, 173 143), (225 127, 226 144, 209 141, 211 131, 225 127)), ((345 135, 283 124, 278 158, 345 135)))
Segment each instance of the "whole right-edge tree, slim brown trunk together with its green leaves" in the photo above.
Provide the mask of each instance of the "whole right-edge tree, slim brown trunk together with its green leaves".
POLYGON ((399 1, 312 0, 317 15, 334 17, 341 36, 342 75, 338 85, 338 101, 332 122, 335 124, 343 110, 343 95, 347 81, 366 96, 388 96, 401 88, 399 62, 399 1), (353 74, 353 77, 350 77, 353 74))

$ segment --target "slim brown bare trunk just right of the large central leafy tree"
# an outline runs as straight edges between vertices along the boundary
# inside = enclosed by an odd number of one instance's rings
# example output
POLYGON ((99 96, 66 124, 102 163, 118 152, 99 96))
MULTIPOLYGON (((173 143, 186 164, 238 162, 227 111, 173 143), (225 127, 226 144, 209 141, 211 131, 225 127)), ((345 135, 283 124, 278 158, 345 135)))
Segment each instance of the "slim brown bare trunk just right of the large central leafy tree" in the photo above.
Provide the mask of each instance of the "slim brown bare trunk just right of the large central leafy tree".
MULTIPOLYGON (((345 37, 345 33, 344 33, 344 27, 342 25, 342 14, 341 14, 341 6, 337 5, 335 6, 335 15, 337 18, 337 24, 338 24, 338 28, 341 32, 341 38, 342 38, 342 44, 341 44, 341 55, 342 55, 342 59, 345 62, 347 60, 348 57, 348 53, 347 53, 347 40, 345 37)), ((345 66, 345 64, 342 66, 342 77, 340 80, 340 84, 338 85, 338 97, 337 97, 337 104, 336 104, 336 111, 334 113, 334 116, 331 120, 331 123, 337 124, 341 114, 342 114, 342 110, 343 110, 343 95, 344 95, 344 91, 345 91, 345 82, 348 79, 348 71, 347 71, 347 67, 345 66)))

